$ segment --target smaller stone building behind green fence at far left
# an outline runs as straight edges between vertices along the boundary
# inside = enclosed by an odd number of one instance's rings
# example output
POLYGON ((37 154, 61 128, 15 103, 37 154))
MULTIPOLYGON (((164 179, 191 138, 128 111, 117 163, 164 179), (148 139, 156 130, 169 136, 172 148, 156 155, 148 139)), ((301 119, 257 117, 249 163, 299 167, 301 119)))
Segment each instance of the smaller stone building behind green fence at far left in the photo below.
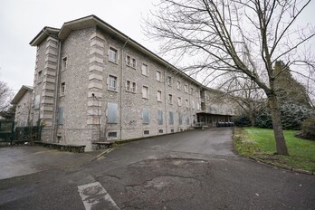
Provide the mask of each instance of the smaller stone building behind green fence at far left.
POLYGON ((22 86, 16 93, 11 104, 15 105, 14 127, 25 127, 32 120, 33 87, 22 86))

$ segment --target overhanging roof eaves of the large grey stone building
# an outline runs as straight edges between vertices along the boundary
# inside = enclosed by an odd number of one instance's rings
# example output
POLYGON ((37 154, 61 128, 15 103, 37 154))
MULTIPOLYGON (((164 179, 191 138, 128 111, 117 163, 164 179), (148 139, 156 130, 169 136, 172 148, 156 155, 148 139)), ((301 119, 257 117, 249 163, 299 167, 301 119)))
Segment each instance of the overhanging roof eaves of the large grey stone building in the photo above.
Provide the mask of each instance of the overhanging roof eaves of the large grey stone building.
POLYGON ((38 46, 49 35, 63 41, 68 37, 70 33, 72 33, 72 31, 87 28, 87 27, 92 27, 92 26, 97 26, 102 31, 114 35, 115 37, 117 37, 119 40, 123 42, 127 42, 129 46, 134 47, 139 52, 143 52, 147 54, 148 57, 166 66, 167 69, 174 70, 178 72, 180 76, 186 78, 187 80, 195 83, 196 85, 202 88, 205 88, 203 84, 191 78, 185 72, 181 72, 180 70, 177 69, 177 67, 165 61, 164 59, 159 57, 156 53, 149 51, 146 47, 136 42, 135 40, 131 39, 128 35, 121 33, 119 30, 117 30, 110 24, 105 23, 103 20, 101 20, 98 16, 94 14, 86 16, 86 17, 82 17, 82 18, 79 18, 70 22, 66 22, 62 25, 61 29, 52 28, 52 27, 44 27, 43 30, 33 38, 30 44, 32 46, 38 46))

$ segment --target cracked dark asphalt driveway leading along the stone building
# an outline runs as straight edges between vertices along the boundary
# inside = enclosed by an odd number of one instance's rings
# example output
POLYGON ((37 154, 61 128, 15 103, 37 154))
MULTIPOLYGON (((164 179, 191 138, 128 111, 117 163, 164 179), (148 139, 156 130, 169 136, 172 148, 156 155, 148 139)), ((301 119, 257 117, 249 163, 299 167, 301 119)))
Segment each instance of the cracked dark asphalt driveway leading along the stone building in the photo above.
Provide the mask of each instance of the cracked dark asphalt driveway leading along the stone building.
POLYGON ((231 136, 149 138, 81 168, 0 180, 0 209, 314 209, 315 177, 238 157, 231 136))

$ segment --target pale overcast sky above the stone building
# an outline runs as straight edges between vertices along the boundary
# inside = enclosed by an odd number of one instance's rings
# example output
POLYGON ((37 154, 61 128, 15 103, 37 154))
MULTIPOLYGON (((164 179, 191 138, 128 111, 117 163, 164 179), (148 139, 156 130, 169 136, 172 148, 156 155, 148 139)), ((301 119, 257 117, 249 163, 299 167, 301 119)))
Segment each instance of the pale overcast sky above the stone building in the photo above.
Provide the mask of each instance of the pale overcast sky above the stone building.
MULTIPOLYGON (((33 86, 36 48, 29 45, 44 26, 62 27, 64 22, 95 14, 153 52, 141 30, 141 16, 147 16, 157 0, 1 0, 0 81, 12 90, 33 86)), ((303 24, 315 25, 315 1, 301 16, 303 24)), ((314 39, 313 42, 315 43, 314 39)), ((315 48, 315 44, 312 46, 315 48)), ((315 50, 313 51, 315 52, 315 50)))

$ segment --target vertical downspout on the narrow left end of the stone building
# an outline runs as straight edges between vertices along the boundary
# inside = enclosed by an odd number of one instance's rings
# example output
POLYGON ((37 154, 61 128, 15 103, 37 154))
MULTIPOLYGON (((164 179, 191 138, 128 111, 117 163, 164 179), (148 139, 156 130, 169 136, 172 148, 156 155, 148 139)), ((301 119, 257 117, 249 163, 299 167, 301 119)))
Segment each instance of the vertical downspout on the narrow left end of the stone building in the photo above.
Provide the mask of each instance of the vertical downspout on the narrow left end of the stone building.
POLYGON ((54 89, 54 95, 55 100, 53 104, 53 115, 52 115, 52 142, 55 142, 56 136, 57 136, 57 129, 56 129, 56 116, 57 116, 57 106, 58 106, 58 100, 59 100, 59 72, 61 70, 61 57, 62 57, 62 41, 58 42, 58 59, 57 59, 57 72, 56 72, 56 85, 54 89))

